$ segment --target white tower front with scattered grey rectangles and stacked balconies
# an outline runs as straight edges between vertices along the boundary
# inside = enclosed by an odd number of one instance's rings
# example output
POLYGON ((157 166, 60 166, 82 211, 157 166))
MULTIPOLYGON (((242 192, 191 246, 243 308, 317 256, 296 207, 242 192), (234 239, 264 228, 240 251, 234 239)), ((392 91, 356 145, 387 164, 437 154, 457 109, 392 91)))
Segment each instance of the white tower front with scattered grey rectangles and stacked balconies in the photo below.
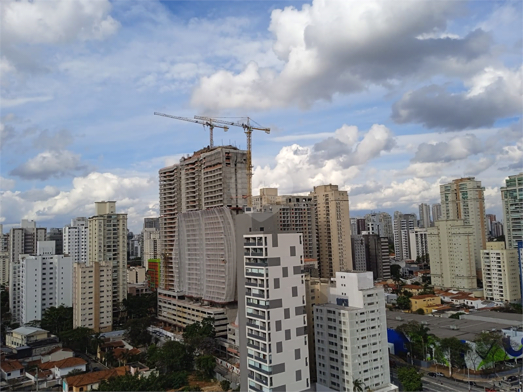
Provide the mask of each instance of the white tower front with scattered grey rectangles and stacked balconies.
POLYGON ((302 236, 259 232, 243 237, 243 328, 247 340, 247 368, 241 368, 242 375, 247 373, 244 388, 253 392, 308 389, 302 236))

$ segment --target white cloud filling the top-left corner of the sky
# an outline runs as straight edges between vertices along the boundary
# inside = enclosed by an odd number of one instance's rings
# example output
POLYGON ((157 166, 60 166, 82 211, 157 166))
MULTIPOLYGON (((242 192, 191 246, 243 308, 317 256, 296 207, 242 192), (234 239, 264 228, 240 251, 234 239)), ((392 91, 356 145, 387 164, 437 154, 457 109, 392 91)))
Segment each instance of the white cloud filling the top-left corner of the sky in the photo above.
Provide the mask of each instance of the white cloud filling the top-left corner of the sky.
POLYGON ((3 40, 15 43, 58 43, 100 40, 115 33, 119 22, 107 0, 3 1, 3 40))

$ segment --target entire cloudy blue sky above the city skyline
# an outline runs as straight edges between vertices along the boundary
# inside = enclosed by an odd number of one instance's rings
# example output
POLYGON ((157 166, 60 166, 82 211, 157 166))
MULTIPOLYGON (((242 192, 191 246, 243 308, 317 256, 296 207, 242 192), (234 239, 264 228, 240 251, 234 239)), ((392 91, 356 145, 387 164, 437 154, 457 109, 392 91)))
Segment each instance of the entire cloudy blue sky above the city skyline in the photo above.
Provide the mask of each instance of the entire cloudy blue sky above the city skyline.
MULTIPOLYGON (((350 215, 416 212, 523 171, 522 2, 0 2, 0 223, 116 200, 158 216, 158 170, 249 116, 253 193, 333 183, 350 215)), ((241 128, 214 144, 246 147, 241 128)))

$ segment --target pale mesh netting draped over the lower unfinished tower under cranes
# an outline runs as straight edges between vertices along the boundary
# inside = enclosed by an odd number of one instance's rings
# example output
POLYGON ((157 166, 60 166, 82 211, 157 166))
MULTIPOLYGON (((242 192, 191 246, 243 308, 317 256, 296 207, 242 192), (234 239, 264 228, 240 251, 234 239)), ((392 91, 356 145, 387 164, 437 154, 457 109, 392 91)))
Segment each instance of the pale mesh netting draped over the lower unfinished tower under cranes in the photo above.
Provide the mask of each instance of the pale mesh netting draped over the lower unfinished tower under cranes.
POLYGON ((178 214, 173 249, 174 289, 206 301, 235 300, 236 239, 231 210, 178 214))

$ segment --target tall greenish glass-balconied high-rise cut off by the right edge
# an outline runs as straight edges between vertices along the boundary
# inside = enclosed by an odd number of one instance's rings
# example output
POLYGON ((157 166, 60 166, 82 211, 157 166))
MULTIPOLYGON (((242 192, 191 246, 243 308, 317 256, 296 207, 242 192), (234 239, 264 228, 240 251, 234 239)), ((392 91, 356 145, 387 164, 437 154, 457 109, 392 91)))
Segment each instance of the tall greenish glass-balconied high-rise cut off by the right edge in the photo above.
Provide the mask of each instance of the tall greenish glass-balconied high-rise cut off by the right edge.
POLYGON ((505 243, 507 248, 516 249, 523 240, 523 172, 509 176, 501 188, 505 243))

